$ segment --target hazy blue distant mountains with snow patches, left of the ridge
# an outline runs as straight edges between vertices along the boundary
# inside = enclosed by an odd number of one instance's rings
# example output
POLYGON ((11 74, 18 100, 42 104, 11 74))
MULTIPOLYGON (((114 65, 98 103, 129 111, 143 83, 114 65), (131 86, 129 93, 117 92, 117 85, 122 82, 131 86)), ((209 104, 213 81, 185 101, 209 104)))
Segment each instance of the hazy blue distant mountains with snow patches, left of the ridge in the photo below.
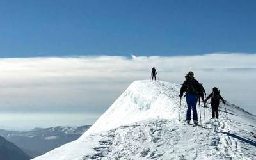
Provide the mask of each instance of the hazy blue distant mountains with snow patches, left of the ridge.
MULTIPOLYGON (((35 128, 22 132, 0 129, 0 136, 17 145, 30 157, 36 157, 65 143, 77 140, 90 126, 35 128)), ((2 152, 1 148, 0 152, 2 152)))

